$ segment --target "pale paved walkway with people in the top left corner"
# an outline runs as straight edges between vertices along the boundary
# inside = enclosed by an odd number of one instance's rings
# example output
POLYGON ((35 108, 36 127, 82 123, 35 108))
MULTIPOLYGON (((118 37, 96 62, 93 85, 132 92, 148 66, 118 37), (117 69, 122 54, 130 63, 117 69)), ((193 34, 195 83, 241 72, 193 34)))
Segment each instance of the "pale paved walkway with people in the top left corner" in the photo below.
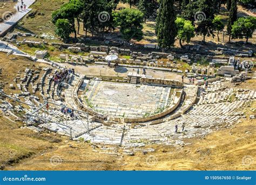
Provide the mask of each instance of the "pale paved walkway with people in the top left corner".
MULTIPOLYGON (((0 23, 0 37, 5 35, 12 26, 14 26, 20 19, 22 19, 28 12, 32 10, 29 9, 29 6, 33 4, 35 1, 36 0, 23 0, 24 4, 26 5, 26 10, 22 11, 21 0, 18 0, 18 3, 16 4, 15 8, 17 9, 17 6, 19 6, 19 11, 17 11, 15 15, 10 16, 8 20, 5 20, 4 23, 0 23)), ((2 15, 2 17, 4 18, 5 15, 8 15, 8 11, 6 11, 4 15, 2 15)))

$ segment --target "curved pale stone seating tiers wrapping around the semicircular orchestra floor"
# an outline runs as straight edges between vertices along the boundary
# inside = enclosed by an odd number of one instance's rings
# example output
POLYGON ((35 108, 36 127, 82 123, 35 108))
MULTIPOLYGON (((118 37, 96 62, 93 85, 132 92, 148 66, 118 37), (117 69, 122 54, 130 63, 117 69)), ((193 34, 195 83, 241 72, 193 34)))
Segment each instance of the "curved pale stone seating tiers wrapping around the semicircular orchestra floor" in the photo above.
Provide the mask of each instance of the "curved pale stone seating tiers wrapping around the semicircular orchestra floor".
MULTIPOLYGON (((86 91, 89 80, 79 74, 72 74, 67 84, 54 85, 55 83, 51 80, 52 73, 50 69, 45 70, 40 79, 39 90, 43 98, 63 106, 84 110, 83 100, 79 94, 86 91), (54 95, 52 95, 53 92, 54 95)), ((63 113, 61 106, 52 104, 47 113, 40 109, 36 115, 51 120, 38 124, 38 128, 47 128, 67 136, 72 134, 73 139, 83 138, 91 142, 125 147, 145 146, 152 143, 182 145, 185 138, 205 136, 218 129, 231 127, 244 117, 244 108, 255 98, 256 93, 253 90, 225 88, 221 81, 215 81, 208 85, 207 90, 204 86, 185 85, 179 106, 170 114, 164 115, 157 124, 153 121, 140 124, 99 122, 95 119, 95 115, 89 115, 87 119, 87 114, 81 112, 74 112, 75 115, 71 117, 63 113), (184 131, 181 127, 183 124, 184 131), (176 125, 177 132, 175 132, 176 125)), ((30 95, 24 99, 31 106, 24 108, 18 105, 15 106, 16 109, 32 112, 35 110, 32 104, 42 105, 36 95, 30 95)), ((10 103, 1 102, 0 108, 9 111, 10 103)), ((35 119, 30 118, 27 123, 34 125, 35 119)))

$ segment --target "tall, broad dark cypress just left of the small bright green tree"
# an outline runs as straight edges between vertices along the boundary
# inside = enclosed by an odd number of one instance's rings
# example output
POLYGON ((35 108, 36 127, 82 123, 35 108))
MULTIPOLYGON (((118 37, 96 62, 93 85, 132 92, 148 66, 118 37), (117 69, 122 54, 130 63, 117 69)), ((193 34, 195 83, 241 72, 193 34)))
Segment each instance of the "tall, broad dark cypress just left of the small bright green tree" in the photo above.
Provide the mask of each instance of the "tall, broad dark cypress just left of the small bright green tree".
POLYGON ((177 36, 175 24, 176 12, 174 10, 174 0, 161 0, 156 21, 156 33, 158 45, 163 49, 173 46, 177 36))

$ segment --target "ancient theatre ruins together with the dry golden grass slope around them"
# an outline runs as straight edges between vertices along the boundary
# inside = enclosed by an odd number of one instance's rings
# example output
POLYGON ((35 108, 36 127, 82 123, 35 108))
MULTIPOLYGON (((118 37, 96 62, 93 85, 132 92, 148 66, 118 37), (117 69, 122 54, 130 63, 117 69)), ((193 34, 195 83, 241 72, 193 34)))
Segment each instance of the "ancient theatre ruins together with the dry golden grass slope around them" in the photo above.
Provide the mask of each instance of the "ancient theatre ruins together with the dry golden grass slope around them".
POLYGON ((215 78, 206 88, 176 73, 130 68, 118 77, 105 67, 98 76, 97 65, 73 72, 70 64, 1 57, 1 169, 255 168, 242 163, 255 150, 255 79, 234 86, 215 78))

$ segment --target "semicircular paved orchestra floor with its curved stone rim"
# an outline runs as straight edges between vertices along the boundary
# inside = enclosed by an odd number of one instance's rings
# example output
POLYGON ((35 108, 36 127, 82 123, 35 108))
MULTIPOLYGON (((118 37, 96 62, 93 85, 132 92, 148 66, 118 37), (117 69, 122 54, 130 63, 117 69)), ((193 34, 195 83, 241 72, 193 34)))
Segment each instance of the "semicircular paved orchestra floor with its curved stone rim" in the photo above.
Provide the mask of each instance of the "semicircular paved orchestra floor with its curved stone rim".
MULTIPOLYGON (((183 91, 171 87, 111 83, 93 79, 87 81, 80 96, 83 107, 95 114, 105 115, 109 121, 146 122, 166 116, 169 118, 179 105, 183 91), (122 120, 122 121, 121 121, 122 120)), ((197 97, 197 86, 185 86, 186 101, 175 114, 183 114, 197 97)), ((169 118, 171 119, 171 118, 169 118)))

